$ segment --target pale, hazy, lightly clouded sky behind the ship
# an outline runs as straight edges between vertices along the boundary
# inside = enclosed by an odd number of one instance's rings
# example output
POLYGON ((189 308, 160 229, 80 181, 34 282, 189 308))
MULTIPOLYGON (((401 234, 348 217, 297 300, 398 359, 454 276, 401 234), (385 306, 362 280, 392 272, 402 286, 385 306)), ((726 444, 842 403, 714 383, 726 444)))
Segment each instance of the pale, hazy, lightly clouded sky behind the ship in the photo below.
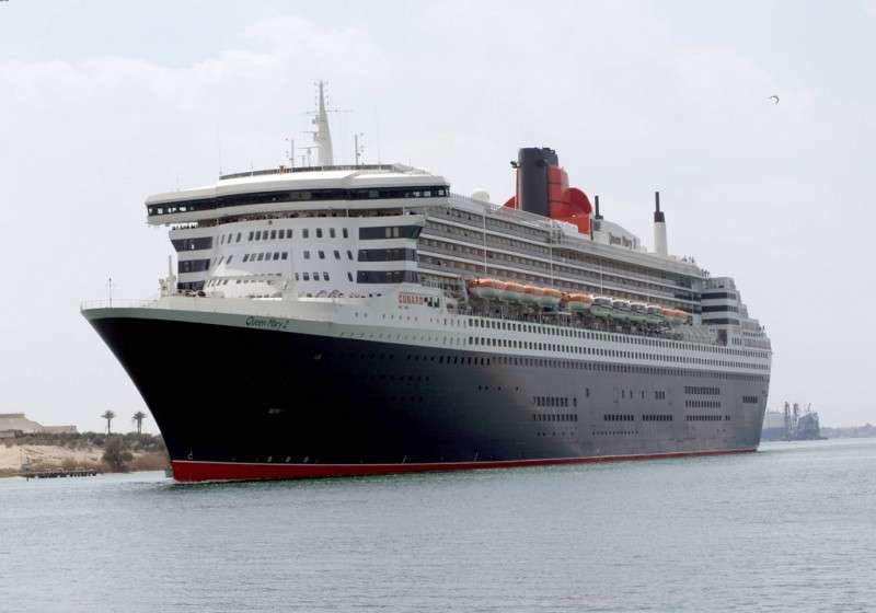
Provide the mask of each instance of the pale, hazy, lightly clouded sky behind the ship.
POLYGON ((154 294, 146 197, 284 163, 324 79, 338 162, 360 132, 504 201, 552 147, 647 244, 659 189, 670 252, 766 326, 770 406, 876 423, 875 30, 876 0, 0 2, 0 413, 130 427, 81 301, 154 294))

